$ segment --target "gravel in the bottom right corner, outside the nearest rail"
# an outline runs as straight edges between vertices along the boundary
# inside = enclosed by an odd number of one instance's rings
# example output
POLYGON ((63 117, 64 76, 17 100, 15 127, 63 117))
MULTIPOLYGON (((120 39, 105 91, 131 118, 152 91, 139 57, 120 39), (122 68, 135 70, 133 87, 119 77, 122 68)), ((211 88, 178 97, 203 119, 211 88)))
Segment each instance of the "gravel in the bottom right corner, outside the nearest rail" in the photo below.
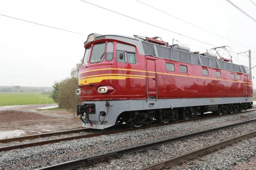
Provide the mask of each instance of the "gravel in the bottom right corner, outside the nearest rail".
POLYGON ((256 137, 200 156, 168 170, 256 170, 256 137))

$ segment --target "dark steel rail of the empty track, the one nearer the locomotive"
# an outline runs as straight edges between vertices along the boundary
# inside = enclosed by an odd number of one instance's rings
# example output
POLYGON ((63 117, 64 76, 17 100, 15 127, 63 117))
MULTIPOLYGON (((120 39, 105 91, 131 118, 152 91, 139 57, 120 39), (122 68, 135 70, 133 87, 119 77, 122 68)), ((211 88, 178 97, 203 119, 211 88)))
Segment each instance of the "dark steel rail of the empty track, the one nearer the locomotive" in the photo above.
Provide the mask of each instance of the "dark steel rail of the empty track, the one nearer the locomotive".
POLYGON ((213 128, 210 130, 204 130, 204 131, 200 131, 200 132, 196 132, 196 133, 191 133, 188 135, 183 135, 183 136, 178 136, 175 138, 170 138, 170 139, 165 139, 165 140, 161 140, 161 141, 157 141, 157 142, 152 142, 149 144, 143 144, 143 145, 138 145, 135 147, 130 147, 130 148, 126 148, 123 150, 117 150, 115 152, 110 152, 110 153, 106 153, 106 154, 102 154, 102 155, 97 155, 97 156, 91 156, 91 157, 87 157, 84 159, 77 159, 77 160, 73 160, 73 161, 68 161, 68 162, 64 162, 61 164, 55 164, 55 165, 51 165, 48 167, 43 167, 43 168, 39 168, 38 170, 72 170, 75 169, 76 167, 84 167, 84 166, 88 166, 91 164, 95 164, 98 162, 102 162, 102 161, 107 161, 109 159, 113 159, 113 158, 118 158, 121 157, 123 155, 127 155, 127 154, 131 154, 131 153, 135 153, 135 152, 140 152, 146 149, 151 149, 163 144, 168 144, 170 142, 175 142, 175 141, 179 141, 182 139, 188 139, 194 136, 199 136, 199 135, 203 135, 205 133, 210 133, 210 132, 214 132, 217 130, 222 130, 222 129, 227 129, 229 127, 235 127, 238 125, 243 125, 246 123, 250 123, 250 122, 255 122, 256 119, 251 119, 251 120, 247 120, 244 122, 239 122, 236 124, 232 124, 232 125, 227 125, 227 126, 222 126, 222 127, 217 127, 217 128, 213 128))

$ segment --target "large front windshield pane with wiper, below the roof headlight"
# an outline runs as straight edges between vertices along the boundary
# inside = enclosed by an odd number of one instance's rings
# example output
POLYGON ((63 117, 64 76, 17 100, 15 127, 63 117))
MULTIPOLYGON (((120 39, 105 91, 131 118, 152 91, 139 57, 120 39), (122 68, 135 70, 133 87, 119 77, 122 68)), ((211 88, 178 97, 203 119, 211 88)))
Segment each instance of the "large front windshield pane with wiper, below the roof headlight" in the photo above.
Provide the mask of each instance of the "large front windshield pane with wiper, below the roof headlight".
POLYGON ((102 62, 105 54, 105 42, 101 44, 93 45, 92 55, 90 57, 90 63, 102 62))

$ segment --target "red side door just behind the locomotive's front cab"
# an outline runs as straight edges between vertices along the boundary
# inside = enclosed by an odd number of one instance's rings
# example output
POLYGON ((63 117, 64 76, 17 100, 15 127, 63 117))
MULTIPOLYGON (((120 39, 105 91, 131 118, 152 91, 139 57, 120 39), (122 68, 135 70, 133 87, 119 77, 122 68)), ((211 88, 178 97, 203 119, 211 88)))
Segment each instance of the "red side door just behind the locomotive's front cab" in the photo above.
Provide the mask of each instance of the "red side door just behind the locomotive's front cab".
POLYGON ((156 73, 156 60, 146 59, 147 71, 147 94, 148 98, 157 98, 157 73, 156 73))

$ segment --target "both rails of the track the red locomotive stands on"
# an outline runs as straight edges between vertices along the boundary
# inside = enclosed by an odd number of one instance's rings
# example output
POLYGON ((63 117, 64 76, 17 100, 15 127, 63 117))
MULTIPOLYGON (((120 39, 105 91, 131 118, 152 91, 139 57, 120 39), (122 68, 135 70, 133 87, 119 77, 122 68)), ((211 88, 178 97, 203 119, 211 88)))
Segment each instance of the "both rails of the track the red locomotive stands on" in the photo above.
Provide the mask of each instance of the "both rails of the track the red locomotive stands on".
MULTIPOLYGON (((250 112, 250 111, 256 111, 256 109, 238 112, 235 114, 246 113, 246 112, 250 112)), ((209 118, 214 118, 214 117, 219 117, 219 116, 226 116, 226 114, 213 115, 213 116, 212 116, 212 114, 204 114, 202 116, 196 117, 195 119, 180 120, 180 121, 176 121, 176 122, 168 122, 165 124, 154 124, 154 125, 148 125, 148 126, 137 127, 137 128, 133 127, 133 128, 108 130, 108 131, 103 130, 103 132, 98 132, 99 130, 95 130, 95 129, 77 129, 77 130, 67 130, 67 131, 61 131, 61 132, 55 132, 55 133, 43 133, 43 134, 37 134, 37 135, 31 135, 31 136, 22 136, 22 137, 10 138, 10 139, 2 139, 2 140, 0 140, 0 143, 8 143, 8 142, 15 142, 15 141, 20 142, 20 141, 24 141, 24 140, 37 139, 37 138, 43 138, 43 137, 49 137, 49 136, 58 136, 58 135, 70 134, 70 133, 96 131, 96 133, 91 133, 91 134, 71 136, 71 137, 51 139, 51 140, 44 140, 44 141, 40 141, 40 142, 31 142, 31 143, 26 143, 26 144, 17 144, 17 145, 12 145, 12 146, 7 146, 7 147, 0 147, 0 152, 14 150, 14 149, 21 149, 21 148, 25 148, 25 147, 41 146, 44 144, 52 144, 52 143, 57 143, 57 142, 62 142, 62 141, 69 141, 69 140, 73 140, 73 139, 90 138, 90 137, 95 137, 95 136, 102 136, 102 135, 108 135, 108 134, 114 134, 114 133, 122 133, 122 132, 128 132, 128 131, 133 131, 133 130, 146 129, 146 128, 151 128, 151 127, 159 127, 159 126, 171 125, 171 124, 194 121, 194 120, 209 119, 209 118)))

